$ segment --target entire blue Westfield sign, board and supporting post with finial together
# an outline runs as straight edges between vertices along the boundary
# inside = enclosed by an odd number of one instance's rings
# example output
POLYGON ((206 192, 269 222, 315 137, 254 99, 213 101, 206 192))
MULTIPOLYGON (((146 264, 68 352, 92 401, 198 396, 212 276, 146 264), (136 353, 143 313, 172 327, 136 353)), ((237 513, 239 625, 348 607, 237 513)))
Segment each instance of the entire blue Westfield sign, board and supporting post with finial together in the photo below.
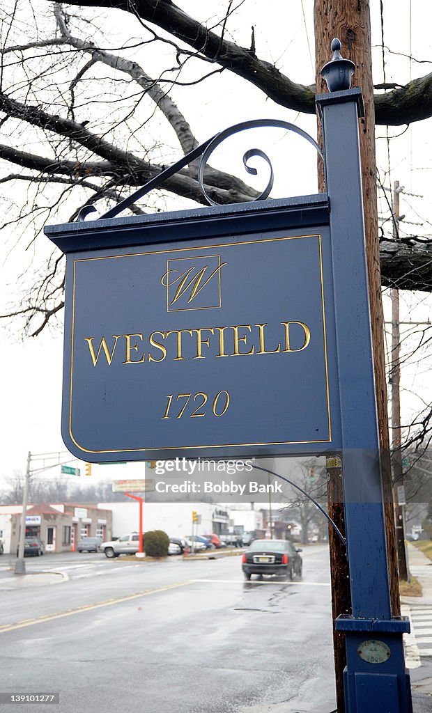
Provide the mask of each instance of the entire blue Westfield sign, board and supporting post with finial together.
MULTIPOLYGON (((340 81, 352 66, 337 61, 340 81)), ((46 228, 67 255, 62 428, 89 462, 341 451, 346 710, 410 713, 409 622, 388 585, 363 106, 344 86, 316 98, 327 194, 46 228)))

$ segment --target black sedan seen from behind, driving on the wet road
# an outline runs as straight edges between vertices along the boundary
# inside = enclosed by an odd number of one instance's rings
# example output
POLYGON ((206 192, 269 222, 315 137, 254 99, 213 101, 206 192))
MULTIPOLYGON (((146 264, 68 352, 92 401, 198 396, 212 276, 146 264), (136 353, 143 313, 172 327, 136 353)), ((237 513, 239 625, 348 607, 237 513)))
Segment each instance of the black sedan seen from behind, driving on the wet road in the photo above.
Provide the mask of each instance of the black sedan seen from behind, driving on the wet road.
POLYGON ((301 549, 288 540, 254 540, 243 553, 241 568, 247 580, 251 575, 282 575, 301 579, 301 549))

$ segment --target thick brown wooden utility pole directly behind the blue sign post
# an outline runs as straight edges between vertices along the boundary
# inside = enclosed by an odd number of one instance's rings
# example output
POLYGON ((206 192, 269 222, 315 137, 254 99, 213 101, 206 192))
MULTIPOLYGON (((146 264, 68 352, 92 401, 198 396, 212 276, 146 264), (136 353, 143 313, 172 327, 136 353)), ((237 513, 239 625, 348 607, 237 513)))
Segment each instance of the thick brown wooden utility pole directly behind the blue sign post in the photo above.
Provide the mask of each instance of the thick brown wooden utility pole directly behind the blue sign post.
MULTIPOLYGON (((378 210, 376 202, 376 155, 375 155, 375 111, 373 106, 373 81, 371 58, 371 21, 368 0, 316 0, 314 6, 315 46, 316 46, 316 91, 326 93, 326 83, 321 78, 322 66, 331 59, 331 41, 341 40, 341 54, 356 65, 352 86, 363 92, 365 116, 360 124, 360 150, 363 183, 363 210, 366 234, 366 256, 368 263, 369 302, 371 307, 371 328, 373 342, 373 362, 375 370, 376 401, 378 409, 378 430, 383 466, 383 496, 386 516, 388 578, 391 589, 393 615, 400 613, 398 572, 396 563, 396 543, 394 530, 393 493, 391 487, 390 444, 388 437, 388 412, 386 368, 384 360, 383 309, 381 302, 381 273, 378 243, 378 210)), ((318 127, 318 131, 319 131, 318 127)), ((341 165, 343 171, 343 165, 341 165)), ((320 190, 324 190, 321 175, 320 190)), ((340 530, 344 530, 343 507, 335 498, 340 493, 340 476, 337 468, 329 470, 329 508, 331 517, 340 530), (336 519, 338 518, 338 519, 336 519)), ((338 549, 331 551, 331 584, 333 616, 343 614, 348 601, 348 578, 346 560, 338 549)), ((335 640, 336 688, 342 690, 342 673, 345 651, 343 641, 335 640)), ((343 712, 343 698, 338 695, 338 713, 343 712)))

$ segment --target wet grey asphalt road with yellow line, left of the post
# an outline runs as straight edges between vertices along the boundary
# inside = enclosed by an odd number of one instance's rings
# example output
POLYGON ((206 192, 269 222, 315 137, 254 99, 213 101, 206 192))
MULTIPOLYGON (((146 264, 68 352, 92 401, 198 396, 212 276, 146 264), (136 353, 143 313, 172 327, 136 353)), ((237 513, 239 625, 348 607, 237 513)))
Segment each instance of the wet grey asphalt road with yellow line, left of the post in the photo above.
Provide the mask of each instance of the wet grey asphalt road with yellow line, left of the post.
POLYGON ((239 556, 28 559, 69 580, 19 591, 0 580, 2 690, 59 692, 52 713, 330 713, 328 553, 303 555, 298 583, 245 582, 239 556))

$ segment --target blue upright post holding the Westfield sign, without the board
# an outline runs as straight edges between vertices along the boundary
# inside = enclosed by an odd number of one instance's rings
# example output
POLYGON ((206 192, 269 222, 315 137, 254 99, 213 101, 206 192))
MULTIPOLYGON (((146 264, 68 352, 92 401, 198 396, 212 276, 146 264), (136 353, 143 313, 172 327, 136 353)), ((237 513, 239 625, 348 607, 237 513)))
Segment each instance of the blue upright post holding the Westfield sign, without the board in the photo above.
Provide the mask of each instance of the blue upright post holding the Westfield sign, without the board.
POLYGON ((346 633, 346 709, 405 713, 412 710, 402 641, 409 623, 392 616, 388 585, 358 148, 361 91, 330 93, 316 101, 323 121, 337 275, 336 349, 353 607, 352 615, 336 620, 336 629, 346 633))

